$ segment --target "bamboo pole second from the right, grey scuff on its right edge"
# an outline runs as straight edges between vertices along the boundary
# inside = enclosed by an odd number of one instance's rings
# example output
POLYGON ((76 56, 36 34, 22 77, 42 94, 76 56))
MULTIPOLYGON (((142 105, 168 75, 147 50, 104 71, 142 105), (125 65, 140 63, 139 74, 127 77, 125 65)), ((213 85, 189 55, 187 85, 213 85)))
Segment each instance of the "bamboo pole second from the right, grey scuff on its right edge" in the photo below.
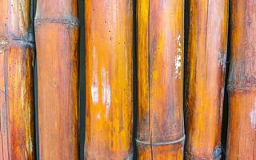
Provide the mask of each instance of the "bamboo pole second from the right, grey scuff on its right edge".
POLYGON ((221 158, 228 0, 190 0, 186 159, 221 158))

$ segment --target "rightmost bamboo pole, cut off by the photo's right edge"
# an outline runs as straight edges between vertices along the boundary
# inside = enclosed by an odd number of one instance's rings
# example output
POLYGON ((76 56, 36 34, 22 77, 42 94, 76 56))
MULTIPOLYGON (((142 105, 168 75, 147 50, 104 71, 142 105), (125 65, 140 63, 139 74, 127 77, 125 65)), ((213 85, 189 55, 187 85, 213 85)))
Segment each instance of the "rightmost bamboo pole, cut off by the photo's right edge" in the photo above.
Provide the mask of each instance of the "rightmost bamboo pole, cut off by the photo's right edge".
POLYGON ((254 0, 231 4, 226 159, 256 159, 256 6, 254 0))

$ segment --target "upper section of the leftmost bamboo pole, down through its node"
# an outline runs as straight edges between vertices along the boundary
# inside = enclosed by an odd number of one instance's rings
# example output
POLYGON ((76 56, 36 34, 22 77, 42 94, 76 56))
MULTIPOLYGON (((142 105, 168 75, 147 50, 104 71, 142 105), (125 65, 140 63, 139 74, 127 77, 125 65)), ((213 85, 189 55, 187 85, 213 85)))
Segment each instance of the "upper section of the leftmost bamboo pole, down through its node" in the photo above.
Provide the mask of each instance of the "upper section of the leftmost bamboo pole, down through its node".
POLYGON ((0 1, 0 53, 9 46, 34 47, 32 2, 0 1))

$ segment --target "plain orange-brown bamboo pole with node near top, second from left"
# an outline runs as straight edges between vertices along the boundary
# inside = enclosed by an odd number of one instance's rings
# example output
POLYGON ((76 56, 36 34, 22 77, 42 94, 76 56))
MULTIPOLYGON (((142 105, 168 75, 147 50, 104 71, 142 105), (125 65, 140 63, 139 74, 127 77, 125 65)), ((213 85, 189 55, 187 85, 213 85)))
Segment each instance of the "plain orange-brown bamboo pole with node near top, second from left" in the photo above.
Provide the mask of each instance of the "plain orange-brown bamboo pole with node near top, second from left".
POLYGON ((78 159, 76 0, 38 0, 38 125, 41 160, 78 159))

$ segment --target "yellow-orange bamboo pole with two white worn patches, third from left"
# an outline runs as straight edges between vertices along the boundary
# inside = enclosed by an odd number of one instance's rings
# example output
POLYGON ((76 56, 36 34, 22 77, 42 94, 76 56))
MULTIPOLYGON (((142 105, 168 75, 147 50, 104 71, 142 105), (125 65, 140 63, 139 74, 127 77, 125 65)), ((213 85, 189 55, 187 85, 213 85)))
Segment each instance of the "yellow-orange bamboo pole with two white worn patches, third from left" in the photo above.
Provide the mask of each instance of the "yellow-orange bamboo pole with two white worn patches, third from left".
POLYGON ((85 158, 132 159, 133 1, 85 7, 85 158))

